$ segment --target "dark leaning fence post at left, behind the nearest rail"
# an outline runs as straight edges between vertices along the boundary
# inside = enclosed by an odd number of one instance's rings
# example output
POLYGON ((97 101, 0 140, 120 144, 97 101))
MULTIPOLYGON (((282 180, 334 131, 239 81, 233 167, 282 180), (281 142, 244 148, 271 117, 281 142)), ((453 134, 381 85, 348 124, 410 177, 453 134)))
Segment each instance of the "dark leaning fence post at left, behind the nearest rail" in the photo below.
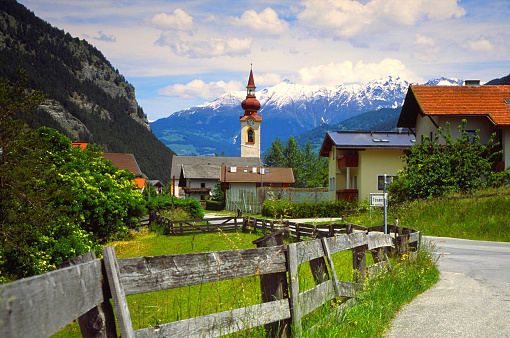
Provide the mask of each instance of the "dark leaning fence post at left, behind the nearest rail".
MULTIPOLYGON (((90 262, 96 259, 96 254, 91 251, 86 254, 75 257, 67 262, 59 264, 58 268, 63 269, 75 266, 81 263, 90 262)), ((104 269, 104 266, 103 266, 104 269)), ((103 272, 104 275, 104 272, 103 272)), ((104 302, 99 304, 87 313, 78 318, 80 332, 82 337, 90 338, 113 338, 117 337, 115 328, 115 315, 113 313, 112 304, 110 303, 110 290, 108 290, 107 280, 103 283, 103 299, 104 302)))

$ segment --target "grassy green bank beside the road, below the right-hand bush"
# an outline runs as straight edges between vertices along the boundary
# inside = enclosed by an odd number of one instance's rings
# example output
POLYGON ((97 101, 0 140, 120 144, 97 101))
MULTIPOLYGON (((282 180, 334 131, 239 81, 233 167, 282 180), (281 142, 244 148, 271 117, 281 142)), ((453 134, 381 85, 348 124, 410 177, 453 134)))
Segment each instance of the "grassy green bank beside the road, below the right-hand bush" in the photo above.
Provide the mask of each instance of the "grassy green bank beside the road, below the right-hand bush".
MULTIPOLYGON (((510 242, 510 189, 478 191, 469 196, 451 196, 436 200, 420 200, 392 206, 388 223, 421 230, 427 236, 455 237, 485 241, 510 242)), ((345 222, 374 226, 381 225, 381 208, 369 213, 349 216, 345 222)))

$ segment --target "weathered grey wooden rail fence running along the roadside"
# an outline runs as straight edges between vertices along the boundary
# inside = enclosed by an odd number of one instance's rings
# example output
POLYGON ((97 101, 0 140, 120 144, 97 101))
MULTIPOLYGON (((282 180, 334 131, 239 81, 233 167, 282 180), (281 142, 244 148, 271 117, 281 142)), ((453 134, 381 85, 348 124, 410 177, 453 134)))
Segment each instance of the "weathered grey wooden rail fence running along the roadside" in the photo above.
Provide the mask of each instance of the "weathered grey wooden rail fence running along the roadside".
MULTIPOLYGON (((243 224, 248 221, 255 227, 268 223, 243 218, 243 224)), ((333 298, 355 297, 366 271, 384 265, 383 248, 420 239, 420 232, 398 227, 393 227, 397 237, 392 238, 373 229, 353 231, 351 226, 346 227, 351 233, 283 245, 282 235, 292 232, 292 226, 294 233, 305 231, 303 224, 288 225, 254 241, 258 247, 253 249, 117 258, 113 247, 105 247, 102 260, 87 255, 77 258, 72 263, 76 265, 2 285, 0 336, 49 337, 78 318, 83 336, 116 337, 110 298, 122 337, 218 337, 261 325, 271 335, 297 336, 303 316, 333 298), (331 255, 345 250, 352 251, 356 282, 336 277, 331 255), (375 262, 370 267, 367 250, 375 262), (305 262, 310 262, 317 285, 303 292, 297 271, 305 262), (249 276, 261 278, 261 304, 133 330, 128 295, 249 276)))

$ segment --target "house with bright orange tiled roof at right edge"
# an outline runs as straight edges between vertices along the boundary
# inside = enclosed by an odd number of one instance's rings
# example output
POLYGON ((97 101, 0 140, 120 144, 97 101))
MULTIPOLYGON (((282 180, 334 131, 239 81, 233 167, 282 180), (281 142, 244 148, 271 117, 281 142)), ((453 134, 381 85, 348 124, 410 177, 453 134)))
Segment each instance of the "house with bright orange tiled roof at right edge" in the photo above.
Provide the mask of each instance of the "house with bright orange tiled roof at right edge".
POLYGON ((479 130, 480 142, 486 143, 493 133, 503 150, 498 170, 510 165, 510 86, 481 86, 466 81, 464 86, 411 85, 402 106, 397 127, 410 128, 416 141, 434 138, 437 128, 450 123, 452 137, 459 136, 457 126, 467 120, 466 131, 479 130))

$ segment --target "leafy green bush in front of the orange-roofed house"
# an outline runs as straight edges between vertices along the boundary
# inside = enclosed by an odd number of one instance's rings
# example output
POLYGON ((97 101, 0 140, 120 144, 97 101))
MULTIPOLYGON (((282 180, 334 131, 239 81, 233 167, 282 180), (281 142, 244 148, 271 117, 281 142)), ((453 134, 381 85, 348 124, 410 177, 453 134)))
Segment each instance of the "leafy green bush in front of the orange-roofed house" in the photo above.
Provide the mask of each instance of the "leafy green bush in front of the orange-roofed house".
MULTIPOLYGON (((450 126, 438 129, 431 140, 409 148, 404 155, 406 164, 397 179, 389 186, 390 198, 401 203, 406 200, 433 198, 447 193, 470 193, 475 189, 501 184, 503 176, 491 170, 501 155, 498 144, 491 138, 487 145, 480 143, 478 131, 470 135, 467 121, 459 126, 460 136, 453 141, 450 126), (444 143, 439 143, 443 138, 444 143)), ((494 137, 494 135, 493 135, 494 137)))

